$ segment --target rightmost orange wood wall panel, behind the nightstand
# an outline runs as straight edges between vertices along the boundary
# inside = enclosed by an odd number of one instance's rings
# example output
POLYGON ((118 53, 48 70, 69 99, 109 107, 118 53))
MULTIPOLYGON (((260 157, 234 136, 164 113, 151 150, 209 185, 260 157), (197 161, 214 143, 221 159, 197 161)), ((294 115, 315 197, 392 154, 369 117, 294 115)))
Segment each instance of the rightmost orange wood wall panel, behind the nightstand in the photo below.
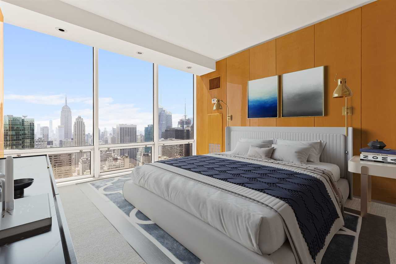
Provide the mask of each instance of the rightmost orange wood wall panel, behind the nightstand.
MULTIPOLYGON (((396 149, 396 1, 362 7, 362 146, 396 149)), ((396 173, 396 172, 395 172, 396 173)), ((396 180, 372 177, 372 197, 396 203, 396 180)))

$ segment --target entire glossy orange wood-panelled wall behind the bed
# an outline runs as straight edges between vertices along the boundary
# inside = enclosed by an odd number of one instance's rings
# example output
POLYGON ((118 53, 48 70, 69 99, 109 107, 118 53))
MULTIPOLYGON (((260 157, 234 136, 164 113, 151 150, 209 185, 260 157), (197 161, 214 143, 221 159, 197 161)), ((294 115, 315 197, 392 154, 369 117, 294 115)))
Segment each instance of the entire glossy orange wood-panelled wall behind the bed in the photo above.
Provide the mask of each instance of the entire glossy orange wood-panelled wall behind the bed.
MULTIPOLYGON (((206 109, 197 120, 198 154, 207 153, 207 130, 200 129, 210 129, 207 127, 209 113, 205 111, 213 108, 205 82, 207 76, 220 72, 227 76, 221 96, 226 95, 230 105, 233 116, 230 126, 342 127, 345 116, 341 115, 341 110, 345 99, 332 98, 337 73, 337 78, 347 79, 353 91, 353 97, 348 98, 348 105, 352 106, 348 126, 354 128, 354 155, 360 154, 359 148, 375 139, 385 141, 389 148, 396 148, 394 14, 396 1, 378 0, 218 62, 215 72, 197 78, 197 108, 206 109), (247 119, 248 80, 317 66, 325 66, 325 116, 247 119)), ((279 98, 281 96, 280 89, 279 98)), ((225 124, 223 122, 223 145, 225 124)), ((354 195, 360 195, 360 175, 354 175, 354 195)), ((372 198, 396 203, 396 180, 373 177, 372 198)))

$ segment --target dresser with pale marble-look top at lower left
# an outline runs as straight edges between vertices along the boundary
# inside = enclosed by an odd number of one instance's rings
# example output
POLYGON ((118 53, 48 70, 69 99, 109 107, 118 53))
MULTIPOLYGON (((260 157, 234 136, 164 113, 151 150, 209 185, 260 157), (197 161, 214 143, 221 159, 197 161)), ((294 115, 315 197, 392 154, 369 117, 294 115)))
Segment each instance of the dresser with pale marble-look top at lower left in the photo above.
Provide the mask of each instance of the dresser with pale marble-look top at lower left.
MULTIPOLYGON (((0 165, 4 168, 4 160, 0 165)), ((52 225, 41 234, 11 243, 0 241, 0 263, 4 264, 76 264, 76 254, 61 199, 47 155, 14 158, 14 179, 33 178, 24 196, 48 193, 52 225)))

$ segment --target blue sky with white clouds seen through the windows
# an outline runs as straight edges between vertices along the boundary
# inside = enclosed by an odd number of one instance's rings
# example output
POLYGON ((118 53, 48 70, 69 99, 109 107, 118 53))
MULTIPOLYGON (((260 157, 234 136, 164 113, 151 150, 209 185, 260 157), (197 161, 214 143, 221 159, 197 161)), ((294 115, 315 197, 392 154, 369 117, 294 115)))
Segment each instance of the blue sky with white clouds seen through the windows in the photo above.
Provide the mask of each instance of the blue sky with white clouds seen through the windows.
MULTIPOLYGON (((4 114, 27 115, 35 124, 59 125, 67 94, 73 120, 84 118, 86 133, 93 120, 92 47, 4 23, 4 114)), ((152 124, 152 63, 99 50, 99 127, 118 123, 152 124)), ((173 125, 193 114, 192 74, 159 66, 162 105, 173 125)))

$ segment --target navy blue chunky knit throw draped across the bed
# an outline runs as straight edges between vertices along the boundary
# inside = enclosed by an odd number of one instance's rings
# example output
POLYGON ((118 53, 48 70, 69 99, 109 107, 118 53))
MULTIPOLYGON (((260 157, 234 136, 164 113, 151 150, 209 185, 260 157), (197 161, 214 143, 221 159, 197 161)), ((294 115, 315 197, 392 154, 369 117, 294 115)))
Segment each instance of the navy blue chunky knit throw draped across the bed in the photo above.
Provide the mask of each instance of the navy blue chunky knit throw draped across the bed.
POLYGON ((249 162, 190 156, 157 161, 208 177, 232 182, 281 199, 293 209, 312 259, 339 218, 324 183, 307 174, 249 162))

